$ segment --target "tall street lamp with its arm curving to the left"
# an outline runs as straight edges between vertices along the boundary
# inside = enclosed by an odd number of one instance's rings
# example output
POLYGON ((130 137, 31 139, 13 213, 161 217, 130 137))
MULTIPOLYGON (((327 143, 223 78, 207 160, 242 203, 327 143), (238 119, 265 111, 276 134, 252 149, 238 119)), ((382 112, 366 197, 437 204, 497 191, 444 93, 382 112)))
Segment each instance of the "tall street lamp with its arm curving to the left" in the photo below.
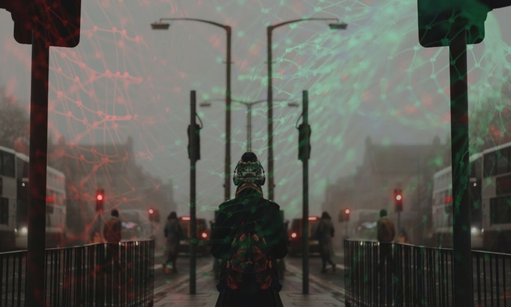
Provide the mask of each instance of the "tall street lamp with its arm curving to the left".
POLYGON ((168 30, 170 27, 169 23, 163 21, 174 21, 174 20, 190 20, 197 21, 199 23, 209 24, 216 27, 220 27, 225 30, 227 35, 227 51, 226 51, 226 74, 225 74, 225 175, 224 175, 224 199, 228 201, 230 199, 230 64, 231 64, 231 27, 216 23, 215 21, 197 19, 197 18, 160 18, 159 21, 151 24, 153 30, 168 30))

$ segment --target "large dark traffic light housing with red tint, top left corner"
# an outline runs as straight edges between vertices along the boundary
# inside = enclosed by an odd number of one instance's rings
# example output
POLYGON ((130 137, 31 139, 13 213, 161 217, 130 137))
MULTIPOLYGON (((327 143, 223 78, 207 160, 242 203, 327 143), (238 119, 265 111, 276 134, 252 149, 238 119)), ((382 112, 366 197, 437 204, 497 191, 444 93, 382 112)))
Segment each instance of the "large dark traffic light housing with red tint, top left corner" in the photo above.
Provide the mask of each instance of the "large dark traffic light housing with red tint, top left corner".
POLYGON ((76 47, 80 41, 81 0, 0 0, 0 8, 11 12, 19 43, 30 45, 32 31, 49 46, 76 47))

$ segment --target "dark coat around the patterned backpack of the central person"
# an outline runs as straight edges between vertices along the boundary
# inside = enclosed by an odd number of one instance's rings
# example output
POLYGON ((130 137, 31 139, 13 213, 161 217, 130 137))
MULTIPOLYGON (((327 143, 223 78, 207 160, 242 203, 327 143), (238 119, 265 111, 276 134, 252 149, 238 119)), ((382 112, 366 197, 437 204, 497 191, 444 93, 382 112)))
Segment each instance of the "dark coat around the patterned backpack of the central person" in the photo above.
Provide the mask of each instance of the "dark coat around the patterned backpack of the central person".
MULTIPOLYGON (((270 250, 270 257, 275 263, 276 259, 287 254, 287 234, 283 230, 283 221, 280 208, 277 204, 262 198, 261 194, 253 189, 241 191, 234 200, 220 205, 215 227, 211 236, 211 254, 218 259, 229 257, 232 238, 236 234, 237 226, 243 221, 255 221, 261 226, 266 243, 270 250)), ((250 297, 258 298, 247 301, 247 295, 241 295, 236 290, 230 290, 226 283, 226 268, 222 265, 220 280, 217 289, 220 291, 216 306, 282 306, 278 291, 282 288, 278 281, 276 266, 273 266, 273 282, 270 290, 260 291, 250 297)))

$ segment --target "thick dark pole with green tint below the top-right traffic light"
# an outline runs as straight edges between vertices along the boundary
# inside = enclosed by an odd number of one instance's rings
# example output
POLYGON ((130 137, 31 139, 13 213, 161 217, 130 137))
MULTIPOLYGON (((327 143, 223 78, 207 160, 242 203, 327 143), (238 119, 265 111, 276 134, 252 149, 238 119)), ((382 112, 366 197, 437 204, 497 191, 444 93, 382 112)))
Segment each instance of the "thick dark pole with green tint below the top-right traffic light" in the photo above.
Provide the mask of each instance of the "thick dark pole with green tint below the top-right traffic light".
POLYGON ((462 30, 449 46, 451 81, 451 157, 453 192, 454 306, 473 306, 469 208, 469 117, 467 34, 462 30))

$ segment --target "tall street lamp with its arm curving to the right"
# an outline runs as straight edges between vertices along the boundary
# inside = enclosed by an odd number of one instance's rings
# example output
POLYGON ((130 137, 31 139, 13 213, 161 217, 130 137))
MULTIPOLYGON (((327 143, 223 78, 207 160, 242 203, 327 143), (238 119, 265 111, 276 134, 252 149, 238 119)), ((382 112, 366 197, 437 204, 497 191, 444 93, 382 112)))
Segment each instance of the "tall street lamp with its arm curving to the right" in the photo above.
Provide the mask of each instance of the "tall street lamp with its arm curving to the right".
POLYGON ((344 30, 347 28, 347 24, 339 23, 338 18, 301 18, 284 21, 283 23, 271 25, 267 27, 267 39, 268 39, 268 199, 274 200, 274 171, 273 171, 273 88, 272 88, 272 71, 271 71, 271 33, 274 29, 289 24, 301 23, 302 21, 335 21, 335 23, 329 24, 331 30, 344 30))

